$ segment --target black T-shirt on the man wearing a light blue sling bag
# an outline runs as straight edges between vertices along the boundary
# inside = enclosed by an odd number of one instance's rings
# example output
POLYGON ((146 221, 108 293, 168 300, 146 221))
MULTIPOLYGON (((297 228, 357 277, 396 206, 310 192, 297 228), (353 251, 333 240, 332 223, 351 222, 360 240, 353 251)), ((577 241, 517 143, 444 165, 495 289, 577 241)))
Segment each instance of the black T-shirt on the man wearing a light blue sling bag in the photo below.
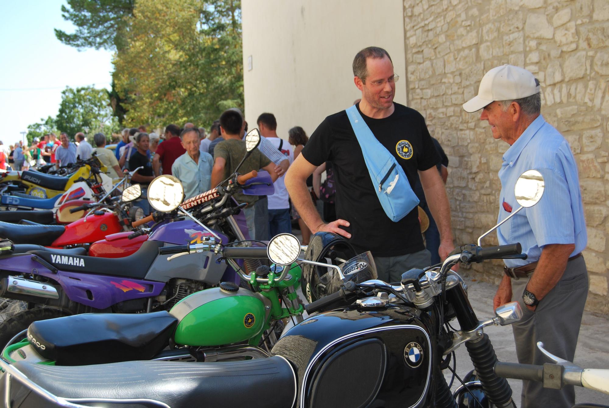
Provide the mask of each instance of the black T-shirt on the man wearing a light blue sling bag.
MULTIPOLYGON (((364 114, 362 118, 402 166, 412 187, 417 180, 417 171, 435 166, 440 157, 423 116, 404 105, 394 105, 395 111, 387 118, 373 119, 364 114), (412 146, 412 154, 403 153, 408 144, 412 146)), ((302 154, 315 166, 332 162, 336 216, 350 222, 350 227, 343 228, 351 233, 350 242, 357 251, 370 250, 375 256, 398 256, 425 248, 416 208, 398 222, 390 220, 382 209, 345 111, 328 116, 313 132, 302 154)))

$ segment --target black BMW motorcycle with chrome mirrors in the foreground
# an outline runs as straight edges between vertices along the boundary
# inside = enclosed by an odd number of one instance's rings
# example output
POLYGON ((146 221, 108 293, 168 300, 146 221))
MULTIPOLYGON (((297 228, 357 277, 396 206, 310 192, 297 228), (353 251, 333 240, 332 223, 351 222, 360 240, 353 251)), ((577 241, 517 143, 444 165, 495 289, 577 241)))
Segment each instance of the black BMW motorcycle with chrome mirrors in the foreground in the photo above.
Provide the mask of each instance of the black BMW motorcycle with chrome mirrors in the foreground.
MULTIPOLYGON (((518 191, 516 197, 524 197, 521 205, 534 205, 543 178, 522 180, 520 187, 530 194, 518 191)), ((0 395, 11 407, 515 407, 507 380, 495 371, 498 361, 484 328, 519 320, 519 304, 478 320, 463 281, 450 268, 526 256, 519 244, 482 248, 482 237, 477 245, 456 248, 441 266, 409 270, 400 283, 389 284, 376 279, 370 253, 353 256, 348 242, 334 234, 315 234, 306 259, 298 259, 297 239, 284 234, 260 255, 276 265, 306 264, 310 317, 285 332, 270 357, 80 367, 0 360, 7 371, 0 395), (454 319, 459 330, 449 325, 454 319), (442 370, 463 343, 476 375, 452 395, 442 370)), ((504 367, 502 375, 517 371, 523 368, 504 367)))

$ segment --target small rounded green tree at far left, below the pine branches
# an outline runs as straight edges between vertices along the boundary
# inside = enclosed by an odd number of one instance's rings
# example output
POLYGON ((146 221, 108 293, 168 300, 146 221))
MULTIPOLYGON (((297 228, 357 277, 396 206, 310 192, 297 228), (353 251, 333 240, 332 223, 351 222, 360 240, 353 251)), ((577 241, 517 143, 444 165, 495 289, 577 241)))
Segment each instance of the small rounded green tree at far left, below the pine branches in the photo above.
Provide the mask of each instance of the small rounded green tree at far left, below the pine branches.
POLYGON ((111 134, 118 132, 119 125, 113 116, 108 91, 90 86, 67 87, 62 91, 62 102, 55 118, 60 132, 72 138, 77 132, 93 135, 96 132, 111 134))

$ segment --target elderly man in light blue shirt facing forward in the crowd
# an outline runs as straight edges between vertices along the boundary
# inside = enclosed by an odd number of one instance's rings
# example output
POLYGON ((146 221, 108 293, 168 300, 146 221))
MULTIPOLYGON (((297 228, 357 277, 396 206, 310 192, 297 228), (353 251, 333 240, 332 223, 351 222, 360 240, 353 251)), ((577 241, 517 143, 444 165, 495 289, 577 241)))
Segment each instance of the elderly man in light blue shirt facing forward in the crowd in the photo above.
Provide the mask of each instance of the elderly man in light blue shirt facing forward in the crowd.
POLYGON ((199 129, 186 128, 180 134, 186 153, 175 159, 171 174, 184 186, 184 198, 189 199, 211 188, 211 155, 199 150, 199 129))

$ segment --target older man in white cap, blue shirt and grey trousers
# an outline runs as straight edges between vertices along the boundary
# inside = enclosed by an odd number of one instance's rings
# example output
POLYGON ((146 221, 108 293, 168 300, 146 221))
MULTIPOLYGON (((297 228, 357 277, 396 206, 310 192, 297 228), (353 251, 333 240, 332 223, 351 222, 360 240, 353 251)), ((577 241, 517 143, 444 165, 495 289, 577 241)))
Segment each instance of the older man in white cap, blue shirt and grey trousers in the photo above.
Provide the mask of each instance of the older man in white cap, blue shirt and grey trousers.
MULTIPOLYGON (((573 361, 588 295, 586 247, 577 164, 568 142, 541 116, 540 85, 526 69, 503 65, 491 69, 478 95, 463 104, 491 125, 493 138, 510 144, 499 170, 499 220, 518 208, 514 185, 524 171, 543 175, 546 189, 540 202, 524 208, 499 227, 499 245, 520 242, 528 258, 506 259, 504 276, 493 301, 495 308, 519 301, 523 318, 512 325, 518 361, 544 364, 536 343, 573 361)), ((571 407, 572 386, 544 389, 541 382, 523 381, 522 406, 571 407)))

